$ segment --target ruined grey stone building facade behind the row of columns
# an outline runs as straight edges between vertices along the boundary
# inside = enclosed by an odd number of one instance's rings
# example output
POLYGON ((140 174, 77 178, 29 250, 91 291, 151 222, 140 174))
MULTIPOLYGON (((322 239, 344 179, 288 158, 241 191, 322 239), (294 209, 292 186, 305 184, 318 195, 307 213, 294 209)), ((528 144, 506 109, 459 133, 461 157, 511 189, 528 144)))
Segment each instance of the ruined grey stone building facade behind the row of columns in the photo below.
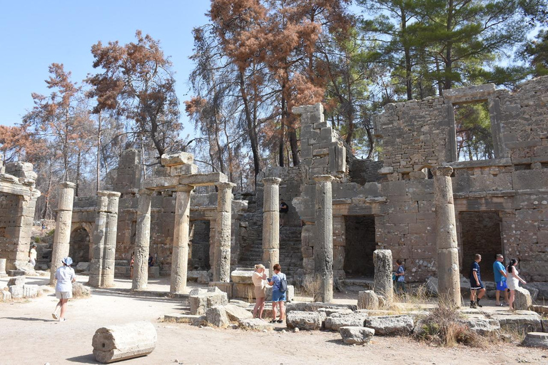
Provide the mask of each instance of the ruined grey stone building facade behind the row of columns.
MULTIPOLYGON (((493 85, 444 91, 423 101, 389 104, 375 116, 380 160, 352 156, 323 119, 323 108, 301 106, 301 165, 267 168, 258 176, 258 191, 234 192, 231 264, 260 262, 262 178, 281 179, 280 197, 290 205, 280 230, 280 262, 290 277, 316 271, 314 247, 316 175, 333 180, 333 270, 335 277, 372 276, 372 252, 392 251, 404 260, 407 279, 420 282, 435 274, 434 185, 430 169, 451 166, 459 260, 467 276, 473 255, 480 253, 489 272, 494 255, 519 257, 520 273, 548 281, 548 78, 522 84, 517 91, 493 85), (494 158, 458 161, 455 106, 485 102, 489 108, 494 158)), ((108 175, 106 190, 121 192, 118 209, 116 272, 128 274, 135 243, 141 161, 127 151, 108 175)), ((161 176, 161 171, 158 171, 161 176)), ((89 261, 96 197, 74 202, 71 255, 89 261)), ((216 193, 193 193, 189 269, 210 269, 215 240, 216 193)), ((156 192, 151 204, 151 248, 159 274, 171 267, 175 197, 156 192)), ((317 260, 317 259, 316 259, 317 260)), ((488 275, 487 275, 488 276, 488 275)))

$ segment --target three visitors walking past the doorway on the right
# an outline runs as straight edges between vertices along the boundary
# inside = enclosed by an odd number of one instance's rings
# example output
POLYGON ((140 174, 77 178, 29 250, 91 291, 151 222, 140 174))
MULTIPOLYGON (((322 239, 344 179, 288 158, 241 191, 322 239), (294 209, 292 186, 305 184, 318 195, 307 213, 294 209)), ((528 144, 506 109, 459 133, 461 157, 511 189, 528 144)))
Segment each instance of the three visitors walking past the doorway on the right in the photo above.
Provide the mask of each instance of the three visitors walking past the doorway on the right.
MULTIPOLYGON (((476 254, 470 267, 470 308, 483 307, 480 300, 485 295, 485 287, 482 283, 480 261, 482 261, 482 255, 476 254)), ((507 305, 511 311, 514 311, 515 289, 519 287, 519 282, 522 282, 522 284, 527 284, 527 282, 519 277, 516 267, 517 259, 511 259, 507 267, 504 267, 502 262, 504 262, 504 256, 499 254, 493 263, 494 282, 496 284, 495 304, 501 307, 507 305), (500 301, 501 292, 504 293, 504 302, 500 301)))

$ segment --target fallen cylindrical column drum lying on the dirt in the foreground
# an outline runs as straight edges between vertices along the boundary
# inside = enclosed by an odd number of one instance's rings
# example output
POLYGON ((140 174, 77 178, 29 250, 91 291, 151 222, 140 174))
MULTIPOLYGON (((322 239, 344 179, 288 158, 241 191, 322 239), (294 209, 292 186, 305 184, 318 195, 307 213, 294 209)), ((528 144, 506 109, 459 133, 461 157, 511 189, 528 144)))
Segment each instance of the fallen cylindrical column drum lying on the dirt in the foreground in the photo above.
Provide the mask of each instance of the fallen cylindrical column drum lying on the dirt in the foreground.
POLYGON ((156 329, 149 322, 101 327, 95 331, 93 356, 103 364, 146 356, 156 348, 156 329))

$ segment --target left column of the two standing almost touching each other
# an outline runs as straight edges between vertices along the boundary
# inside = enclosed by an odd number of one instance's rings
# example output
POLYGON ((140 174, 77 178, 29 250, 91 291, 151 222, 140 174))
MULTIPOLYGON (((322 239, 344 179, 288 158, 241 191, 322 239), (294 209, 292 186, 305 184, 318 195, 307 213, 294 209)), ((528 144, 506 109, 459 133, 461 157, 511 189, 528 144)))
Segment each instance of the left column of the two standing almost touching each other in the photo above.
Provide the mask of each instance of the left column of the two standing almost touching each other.
POLYGON ((93 246, 91 262, 89 263, 89 285, 91 287, 103 286, 103 265, 105 257, 106 217, 108 211, 108 192, 97 192, 97 211, 95 213, 95 225, 93 226, 93 246))

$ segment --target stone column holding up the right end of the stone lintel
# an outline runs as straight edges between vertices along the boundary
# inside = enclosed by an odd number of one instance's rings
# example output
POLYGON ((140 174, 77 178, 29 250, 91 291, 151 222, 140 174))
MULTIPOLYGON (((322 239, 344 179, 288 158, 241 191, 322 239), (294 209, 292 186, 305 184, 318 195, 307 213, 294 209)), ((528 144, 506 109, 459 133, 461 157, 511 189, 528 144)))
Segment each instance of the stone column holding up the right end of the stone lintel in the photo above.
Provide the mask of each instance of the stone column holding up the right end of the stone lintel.
POLYGON ((219 183, 217 221, 215 222, 215 262, 213 281, 230 282, 230 237, 232 226, 233 183, 219 183))

